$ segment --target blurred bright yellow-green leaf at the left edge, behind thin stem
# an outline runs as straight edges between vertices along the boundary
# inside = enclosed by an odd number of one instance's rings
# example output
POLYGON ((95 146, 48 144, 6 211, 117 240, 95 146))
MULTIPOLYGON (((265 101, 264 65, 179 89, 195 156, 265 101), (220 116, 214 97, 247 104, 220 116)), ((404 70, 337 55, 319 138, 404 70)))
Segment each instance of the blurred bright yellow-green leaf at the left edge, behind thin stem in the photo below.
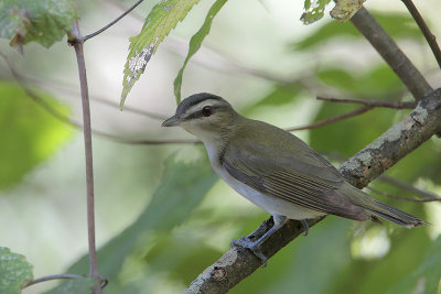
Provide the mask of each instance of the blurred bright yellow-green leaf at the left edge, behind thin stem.
MULTIPOLYGON (((72 131, 15 83, 0 81, 0 188, 6 188, 50 157, 71 138, 72 131)), ((47 95, 41 97, 58 111, 67 112, 47 95)))

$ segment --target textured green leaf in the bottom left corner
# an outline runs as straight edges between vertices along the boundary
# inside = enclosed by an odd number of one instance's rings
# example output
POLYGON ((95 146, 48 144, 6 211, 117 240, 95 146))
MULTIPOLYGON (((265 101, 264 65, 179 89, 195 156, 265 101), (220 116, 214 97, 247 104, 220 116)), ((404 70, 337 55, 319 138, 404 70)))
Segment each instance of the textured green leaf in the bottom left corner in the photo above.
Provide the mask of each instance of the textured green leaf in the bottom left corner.
POLYGON ((32 265, 26 259, 0 247, 0 293, 19 294, 21 285, 32 279, 32 265))

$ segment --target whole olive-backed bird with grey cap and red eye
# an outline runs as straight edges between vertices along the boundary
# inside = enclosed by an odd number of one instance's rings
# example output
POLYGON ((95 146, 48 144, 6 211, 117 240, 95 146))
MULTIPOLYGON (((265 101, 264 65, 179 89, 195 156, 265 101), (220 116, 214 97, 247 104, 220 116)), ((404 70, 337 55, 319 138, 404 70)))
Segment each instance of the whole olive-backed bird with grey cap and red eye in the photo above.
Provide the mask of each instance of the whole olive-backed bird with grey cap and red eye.
POLYGON ((218 96, 190 96, 162 126, 180 126, 201 139, 214 171, 237 193, 272 215, 273 227, 259 240, 235 241, 263 262, 260 244, 288 219, 300 220, 305 233, 305 219, 324 215, 354 220, 380 217, 407 228, 427 225, 352 186, 295 135, 238 115, 218 96))

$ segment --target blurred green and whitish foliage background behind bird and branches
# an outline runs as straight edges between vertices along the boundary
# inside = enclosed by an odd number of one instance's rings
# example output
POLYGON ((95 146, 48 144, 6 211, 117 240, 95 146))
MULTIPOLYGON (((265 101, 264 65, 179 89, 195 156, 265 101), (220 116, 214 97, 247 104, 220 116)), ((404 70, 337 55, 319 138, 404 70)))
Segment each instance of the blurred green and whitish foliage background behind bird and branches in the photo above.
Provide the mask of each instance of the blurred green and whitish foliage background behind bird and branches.
MULTIPOLYGON (((180 129, 161 129, 160 119, 131 109, 174 112, 173 79, 187 41, 212 2, 197 4, 159 46, 122 112, 118 102, 128 37, 142 26, 136 14, 147 15, 154 3, 147 1, 132 17, 85 44, 93 129, 127 139, 191 139, 180 129)), ((78 1, 83 33, 118 15, 119 4, 129 1, 78 1)), ((439 0, 416 4, 441 36, 439 0)), ((326 13, 305 26, 299 21, 302 6, 292 0, 228 1, 187 66, 183 96, 214 92, 239 112, 281 128, 358 107, 318 101, 318 95, 412 100, 351 23, 331 21, 326 13)), ((440 87, 434 58, 402 3, 372 0, 367 8, 431 85, 440 87)), ((0 40, 0 51, 45 101, 82 120, 76 61, 65 40, 50 50, 31 43, 24 57, 0 40)), ((87 273, 83 135, 30 99, 3 61, 0 75, 0 246, 24 254, 36 277, 87 273)), ((331 160, 344 159, 408 112, 374 109, 295 134, 331 160)), ((110 279, 105 293, 179 293, 228 249, 232 239, 268 218, 218 181, 201 145, 132 145, 99 135, 93 143, 98 264, 110 279)), ((387 172, 438 195, 440 174, 441 140, 435 138, 387 172)), ((412 196, 380 181, 370 186, 412 196)), ((435 293, 441 276, 441 205, 376 197, 432 226, 406 230, 329 217, 232 293, 435 293)), ((23 293, 42 293, 54 285, 40 284, 23 293)))

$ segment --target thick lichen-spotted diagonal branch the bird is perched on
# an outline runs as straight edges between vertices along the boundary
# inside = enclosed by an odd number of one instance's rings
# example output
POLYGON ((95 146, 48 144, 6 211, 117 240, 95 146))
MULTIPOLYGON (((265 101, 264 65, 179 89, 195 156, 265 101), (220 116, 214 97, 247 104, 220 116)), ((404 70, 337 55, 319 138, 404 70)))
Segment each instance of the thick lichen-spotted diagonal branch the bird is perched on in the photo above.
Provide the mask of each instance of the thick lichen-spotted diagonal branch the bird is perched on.
MULTIPOLYGON (((340 172, 354 186, 364 187, 440 131, 441 89, 437 89, 423 97, 410 115, 346 161, 340 172)), ((312 219, 308 224, 312 227, 321 220, 312 219)), ((271 228, 271 219, 263 221, 250 238, 260 238, 271 228)), ((262 253, 272 257, 302 232, 300 221, 288 221, 261 246, 262 253)), ((261 261, 248 249, 233 247, 205 269, 184 293, 226 293, 261 265, 261 261)))

